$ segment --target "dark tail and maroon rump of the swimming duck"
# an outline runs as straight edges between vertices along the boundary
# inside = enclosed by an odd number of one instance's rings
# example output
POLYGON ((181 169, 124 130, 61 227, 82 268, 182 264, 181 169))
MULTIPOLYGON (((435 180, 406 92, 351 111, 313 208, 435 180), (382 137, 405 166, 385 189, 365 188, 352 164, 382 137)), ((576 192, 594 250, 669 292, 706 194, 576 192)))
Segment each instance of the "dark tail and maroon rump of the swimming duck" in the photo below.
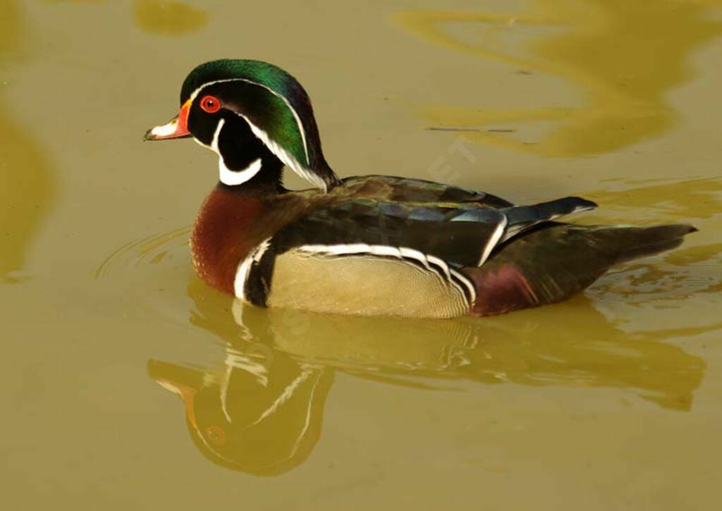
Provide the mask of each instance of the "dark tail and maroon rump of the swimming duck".
POLYGON ((477 286, 471 313, 492 315, 560 302, 611 266, 670 250, 690 225, 601 227, 550 224, 510 240, 481 268, 464 268, 477 286))

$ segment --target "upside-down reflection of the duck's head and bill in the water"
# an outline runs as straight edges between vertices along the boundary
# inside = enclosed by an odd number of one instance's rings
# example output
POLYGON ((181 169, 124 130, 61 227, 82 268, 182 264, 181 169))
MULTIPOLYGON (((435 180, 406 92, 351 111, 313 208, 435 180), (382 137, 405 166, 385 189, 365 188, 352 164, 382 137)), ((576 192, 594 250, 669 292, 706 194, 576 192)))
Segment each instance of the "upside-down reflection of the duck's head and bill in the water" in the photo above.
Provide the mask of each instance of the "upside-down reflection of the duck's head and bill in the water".
POLYGON ((230 352, 225 370, 201 373, 149 362, 149 374, 186 405, 191 438, 221 466, 271 476, 308 458, 321 433, 331 373, 282 355, 269 372, 257 359, 230 352))

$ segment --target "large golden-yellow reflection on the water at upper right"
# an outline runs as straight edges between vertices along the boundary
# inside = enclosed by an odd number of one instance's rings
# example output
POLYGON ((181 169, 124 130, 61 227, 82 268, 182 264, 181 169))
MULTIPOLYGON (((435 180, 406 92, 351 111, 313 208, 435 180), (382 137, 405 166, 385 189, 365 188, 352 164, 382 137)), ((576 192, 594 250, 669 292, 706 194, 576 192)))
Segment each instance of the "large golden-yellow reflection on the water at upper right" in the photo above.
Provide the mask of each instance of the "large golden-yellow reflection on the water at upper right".
POLYGON ((518 16, 414 11, 397 20, 432 43, 513 66, 520 89, 540 103, 426 108, 422 115, 435 128, 453 129, 469 141, 569 157, 612 152, 671 128, 676 113, 666 92, 692 76, 692 51, 722 33, 704 3, 537 0, 518 16), (537 73, 566 79, 586 99, 580 105, 544 102, 537 73))

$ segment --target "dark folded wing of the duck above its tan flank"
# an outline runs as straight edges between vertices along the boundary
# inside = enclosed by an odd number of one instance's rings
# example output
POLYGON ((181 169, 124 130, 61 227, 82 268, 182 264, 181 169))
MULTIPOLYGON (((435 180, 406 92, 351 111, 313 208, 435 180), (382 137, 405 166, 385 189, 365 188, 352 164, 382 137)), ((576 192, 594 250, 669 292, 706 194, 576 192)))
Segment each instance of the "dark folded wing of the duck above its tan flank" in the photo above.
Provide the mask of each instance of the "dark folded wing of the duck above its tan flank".
POLYGON ((276 253, 303 248, 326 255, 416 250, 451 266, 482 266, 505 240, 563 215, 595 207, 566 197, 532 206, 494 208, 477 202, 412 203, 347 198, 310 211, 273 237, 276 253))

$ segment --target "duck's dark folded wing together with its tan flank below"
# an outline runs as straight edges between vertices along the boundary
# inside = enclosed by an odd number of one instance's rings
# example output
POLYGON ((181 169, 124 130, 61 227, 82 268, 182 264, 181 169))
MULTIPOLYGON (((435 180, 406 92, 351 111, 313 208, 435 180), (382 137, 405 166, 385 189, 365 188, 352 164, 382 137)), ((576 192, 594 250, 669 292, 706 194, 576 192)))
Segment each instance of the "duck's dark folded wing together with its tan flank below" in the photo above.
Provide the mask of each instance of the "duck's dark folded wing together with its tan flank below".
POLYGON ((499 209, 367 197, 326 201, 249 255, 235 291, 254 305, 326 313, 464 315, 477 284, 462 268, 482 266, 510 231, 591 206, 578 198, 499 209))

